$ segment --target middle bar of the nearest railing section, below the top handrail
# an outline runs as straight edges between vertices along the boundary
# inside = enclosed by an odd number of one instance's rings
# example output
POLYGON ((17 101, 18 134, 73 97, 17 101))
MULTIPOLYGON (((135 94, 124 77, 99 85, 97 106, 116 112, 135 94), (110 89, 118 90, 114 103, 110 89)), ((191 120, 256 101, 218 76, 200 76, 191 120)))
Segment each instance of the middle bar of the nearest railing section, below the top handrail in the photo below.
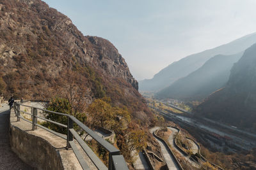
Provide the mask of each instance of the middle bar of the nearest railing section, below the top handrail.
POLYGON ((74 138, 77 140, 79 145, 83 148, 84 152, 90 157, 93 164, 98 169, 108 169, 108 167, 103 164, 103 162, 95 155, 95 153, 91 150, 91 148, 84 143, 83 139, 77 134, 77 132, 74 129, 69 129, 69 131, 73 134, 74 138))

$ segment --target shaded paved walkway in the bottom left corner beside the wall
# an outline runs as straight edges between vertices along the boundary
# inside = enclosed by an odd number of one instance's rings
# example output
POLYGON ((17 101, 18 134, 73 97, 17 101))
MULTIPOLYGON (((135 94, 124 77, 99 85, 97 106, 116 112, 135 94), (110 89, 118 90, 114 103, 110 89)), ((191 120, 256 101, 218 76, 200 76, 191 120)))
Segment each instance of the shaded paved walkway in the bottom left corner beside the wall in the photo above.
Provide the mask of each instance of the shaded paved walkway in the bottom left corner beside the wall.
POLYGON ((0 108, 0 169, 33 169, 12 152, 9 141, 10 111, 5 104, 0 108))

